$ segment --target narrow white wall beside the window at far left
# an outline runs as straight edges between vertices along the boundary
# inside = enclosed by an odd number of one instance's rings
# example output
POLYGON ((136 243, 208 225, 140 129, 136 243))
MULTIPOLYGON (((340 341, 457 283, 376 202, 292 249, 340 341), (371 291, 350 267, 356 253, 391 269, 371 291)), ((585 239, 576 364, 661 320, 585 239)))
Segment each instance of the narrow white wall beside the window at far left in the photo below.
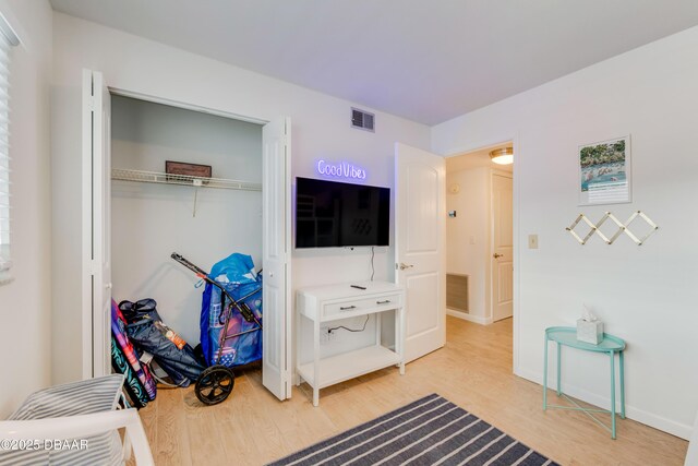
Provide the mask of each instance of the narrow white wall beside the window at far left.
POLYGON ((12 259, 14 282, 0 286, 0 419, 50 384, 51 7, 0 1, 22 44, 10 70, 12 259))

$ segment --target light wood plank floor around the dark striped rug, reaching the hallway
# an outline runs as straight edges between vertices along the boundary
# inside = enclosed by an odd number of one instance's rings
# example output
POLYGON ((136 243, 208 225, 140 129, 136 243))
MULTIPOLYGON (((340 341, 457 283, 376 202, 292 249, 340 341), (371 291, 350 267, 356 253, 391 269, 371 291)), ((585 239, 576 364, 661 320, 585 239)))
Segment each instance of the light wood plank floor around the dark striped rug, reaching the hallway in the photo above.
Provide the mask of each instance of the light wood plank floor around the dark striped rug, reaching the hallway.
POLYGON ((158 465, 260 465, 431 393, 563 465, 671 466, 686 455, 686 441, 631 420, 618 420, 611 440, 581 413, 543 413, 541 386, 512 373, 510 319, 481 326, 449 316, 446 346, 404 377, 385 369, 325 389, 317 408, 308 385, 280 403, 253 370, 220 405, 201 405, 191 387, 160 390, 141 418, 158 465))

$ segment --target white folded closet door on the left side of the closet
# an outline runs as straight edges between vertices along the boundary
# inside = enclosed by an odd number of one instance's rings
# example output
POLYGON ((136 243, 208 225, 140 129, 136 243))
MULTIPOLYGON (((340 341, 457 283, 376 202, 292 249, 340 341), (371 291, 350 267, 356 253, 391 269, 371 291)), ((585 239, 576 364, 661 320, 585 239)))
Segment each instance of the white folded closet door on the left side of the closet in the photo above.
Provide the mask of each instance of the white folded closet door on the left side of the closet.
POLYGON ((83 378, 111 372, 111 99, 83 70, 83 378))

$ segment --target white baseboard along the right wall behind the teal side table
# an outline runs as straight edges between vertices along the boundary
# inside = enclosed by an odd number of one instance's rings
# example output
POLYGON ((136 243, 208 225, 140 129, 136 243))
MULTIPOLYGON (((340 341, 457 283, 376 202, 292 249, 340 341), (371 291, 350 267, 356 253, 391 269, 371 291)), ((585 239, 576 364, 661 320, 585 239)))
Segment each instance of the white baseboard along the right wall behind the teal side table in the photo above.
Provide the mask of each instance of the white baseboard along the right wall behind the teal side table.
MULTIPOLYGON (((526 369, 522 370, 519 368, 517 371, 515 371, 515 374, 522 379, 526 379, 533 383, 542 385, 541 383, 541 381, 543 380, 542 373, 529 371, 526 369)), ((547 380, 549 389, 551 387, 554 389, 556 383, 557 381, 554 377, 549 377, 549 380, 547 380)), ((541 386, 541 390, 542 390, 542 386, 541 386)), ((579 389, 578 386, 565 384, 564 391, 567 395, 573 396, 577 399, 581 399, 582 402, 590 403, 594 406, 601 406, 603 408, 607 408, 607 406, 611 405, 610 397, 601 396, 597 393, 592 393, 587 390, 579 389)), ((542 403, 542 399, 543 399, 543 393, 541 391, 541 403, 542 403)), ((616 410, 618 411, 621 410, 619 402, 617 403, 616 410)), ((625 416, 629 419, 636 420, 640 423, 652 427, 654 429, 659 429, 662 432, 671 433, 672 435, 676 435, 684 440, 689 440, 694 430, 693 426, 688 426, 685 423, 673 421, 671 419, 666 419, 662 416, 630 406, 627 403, 625 405, 625 416)))

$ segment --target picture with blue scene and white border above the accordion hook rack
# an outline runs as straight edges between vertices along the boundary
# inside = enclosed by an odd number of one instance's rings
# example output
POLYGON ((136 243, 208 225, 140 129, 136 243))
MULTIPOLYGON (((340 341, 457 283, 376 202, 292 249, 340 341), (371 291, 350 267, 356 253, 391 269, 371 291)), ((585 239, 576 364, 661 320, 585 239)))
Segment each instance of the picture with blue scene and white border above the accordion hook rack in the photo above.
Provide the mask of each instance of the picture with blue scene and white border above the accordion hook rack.
POLYGON ((579 205, 633 201, 629 134, 580 145, 577 168, 579 205))

